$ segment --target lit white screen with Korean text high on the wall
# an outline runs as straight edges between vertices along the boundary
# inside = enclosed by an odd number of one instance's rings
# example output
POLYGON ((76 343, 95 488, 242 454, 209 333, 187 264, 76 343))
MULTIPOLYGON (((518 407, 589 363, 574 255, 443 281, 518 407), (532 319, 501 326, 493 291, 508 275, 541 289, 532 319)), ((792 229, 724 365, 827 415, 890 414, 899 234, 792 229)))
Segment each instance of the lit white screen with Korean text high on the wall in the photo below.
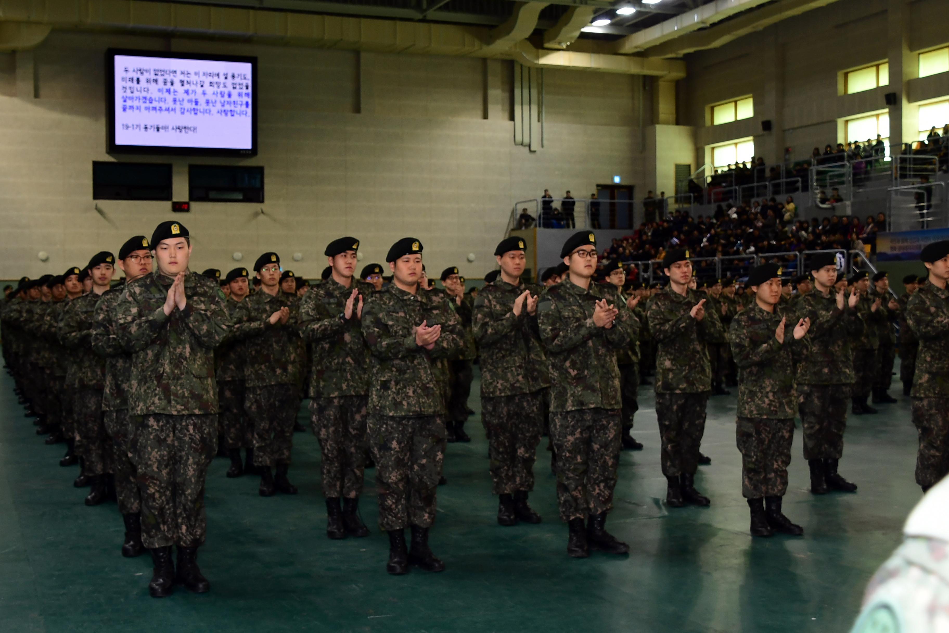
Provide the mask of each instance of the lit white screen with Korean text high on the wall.
POLYGON ((115 144, 251 150, 251 64, 115 56, 115 144))

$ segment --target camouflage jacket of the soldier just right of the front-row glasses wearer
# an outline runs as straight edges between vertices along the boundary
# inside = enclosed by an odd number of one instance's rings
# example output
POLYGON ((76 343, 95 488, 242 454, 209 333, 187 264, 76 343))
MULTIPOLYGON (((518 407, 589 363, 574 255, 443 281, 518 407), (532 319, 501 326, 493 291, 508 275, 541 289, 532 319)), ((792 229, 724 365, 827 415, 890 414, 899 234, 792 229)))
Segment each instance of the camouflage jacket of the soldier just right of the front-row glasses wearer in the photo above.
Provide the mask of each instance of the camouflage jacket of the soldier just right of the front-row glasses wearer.
POLYGON ((695 290, 685 296, 665 288, 649 307, 649 327, 658 344, 656 393, 694 394, 712 390, 709 342, 722 338, 721 321, 714 310, 705 310, 698 321, 690 314, 702 299, 695 290))

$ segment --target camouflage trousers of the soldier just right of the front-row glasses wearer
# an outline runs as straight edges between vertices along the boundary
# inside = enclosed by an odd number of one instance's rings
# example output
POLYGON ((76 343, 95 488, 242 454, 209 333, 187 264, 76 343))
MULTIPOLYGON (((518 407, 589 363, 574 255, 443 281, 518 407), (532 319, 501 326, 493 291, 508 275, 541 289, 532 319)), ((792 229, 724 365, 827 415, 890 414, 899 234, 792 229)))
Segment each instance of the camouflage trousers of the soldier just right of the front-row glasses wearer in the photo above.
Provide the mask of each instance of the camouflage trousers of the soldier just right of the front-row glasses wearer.
POLYGON ((705 406, 709 394, 656 394, 656 419, 662 444, 662 475, 695 475, 698 448, 705 435, 705 406))

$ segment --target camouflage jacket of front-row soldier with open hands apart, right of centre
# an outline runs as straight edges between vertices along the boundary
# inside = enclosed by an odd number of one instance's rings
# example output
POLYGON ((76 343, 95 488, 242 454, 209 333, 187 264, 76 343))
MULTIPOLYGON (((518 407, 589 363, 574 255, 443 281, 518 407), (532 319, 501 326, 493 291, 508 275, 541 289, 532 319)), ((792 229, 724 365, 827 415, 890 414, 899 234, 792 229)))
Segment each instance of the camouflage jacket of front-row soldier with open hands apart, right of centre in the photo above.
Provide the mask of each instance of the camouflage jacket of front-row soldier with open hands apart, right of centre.
POLYGON ((732 320, 729 339, 738 365, 739 418, 793 418, 797 415, 796 369, 805 355, 809 337, 794 339, 797 318, 791 307, 769 312, 755 305, 732 320), (784 343, 774 330, 786 318, 784 343))

